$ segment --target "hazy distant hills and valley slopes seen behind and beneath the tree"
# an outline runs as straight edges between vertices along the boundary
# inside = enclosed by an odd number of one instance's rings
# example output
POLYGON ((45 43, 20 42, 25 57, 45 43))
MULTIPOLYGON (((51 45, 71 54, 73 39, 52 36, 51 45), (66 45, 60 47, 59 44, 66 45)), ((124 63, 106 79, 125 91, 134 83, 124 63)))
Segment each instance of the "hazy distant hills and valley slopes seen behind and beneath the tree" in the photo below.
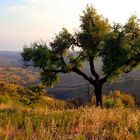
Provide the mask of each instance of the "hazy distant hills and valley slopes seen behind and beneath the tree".
MULTIPOLYGON (((97 70, 100 71, 101 62, 96 62, 97 70)), ((30 69, 22 68, 22 61, 20 52, 0 51, 0 81, 16 81, 16 83, 37 83, 39 80, 39 73, 30 71, 30 69)), ((84 64, 83 70, 88 71, 87 63, 84 64)), ((110 90, 120 89, 123 91, 132 92, 140 99, 140 69, 130 72, 128 75, 122 77, 121 80, 113 84, 106 83, 104 86, 104 93, 110 90)), ((86 98, 88 86, 87 81, 75 73, 62 74, 60 82, 54 88, 47 88, 50 94, 57 98, 86 98)), ((90 86, 90 92, 93 92, 93 87, 90 86)))

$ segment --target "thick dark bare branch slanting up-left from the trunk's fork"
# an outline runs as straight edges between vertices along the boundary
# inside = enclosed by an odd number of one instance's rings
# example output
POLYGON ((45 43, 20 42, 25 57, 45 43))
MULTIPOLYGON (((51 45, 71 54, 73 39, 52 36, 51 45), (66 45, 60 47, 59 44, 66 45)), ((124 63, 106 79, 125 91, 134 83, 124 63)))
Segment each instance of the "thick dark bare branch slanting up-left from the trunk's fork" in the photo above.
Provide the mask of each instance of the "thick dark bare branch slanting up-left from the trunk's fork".
POLYGON ((91 78, 91 77, 88 77, 85 73, 83 73, 81 70, 79 70, 78 68, 76 67, 73 67, 72 68, 72 71, 77 73, 78 75, 82 76, 85 80, 87 80, 89 83, 95 85, 95 81, 91 78))

